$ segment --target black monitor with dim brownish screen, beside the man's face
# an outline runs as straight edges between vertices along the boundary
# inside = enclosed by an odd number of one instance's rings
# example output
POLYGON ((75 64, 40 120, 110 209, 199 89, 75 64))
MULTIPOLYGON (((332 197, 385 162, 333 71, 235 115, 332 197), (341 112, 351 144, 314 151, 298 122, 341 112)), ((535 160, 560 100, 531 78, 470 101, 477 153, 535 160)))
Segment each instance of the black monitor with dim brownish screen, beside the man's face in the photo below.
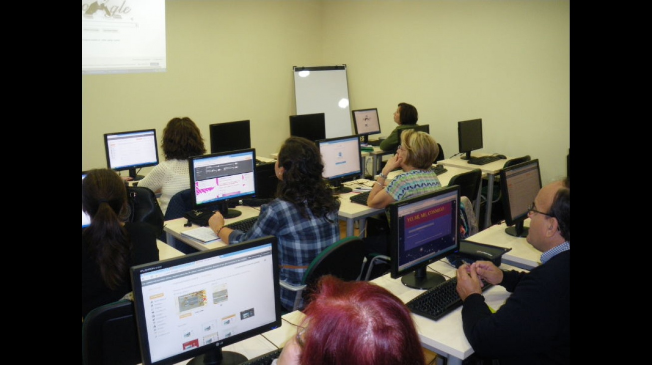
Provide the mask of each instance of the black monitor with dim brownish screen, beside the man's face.
POLYGON ((527 237, 523 221, 527 208, 541 190, 539 160, 533 159, 500 170, 501 204, 505 212, 505 232, 511 236, 527 237))

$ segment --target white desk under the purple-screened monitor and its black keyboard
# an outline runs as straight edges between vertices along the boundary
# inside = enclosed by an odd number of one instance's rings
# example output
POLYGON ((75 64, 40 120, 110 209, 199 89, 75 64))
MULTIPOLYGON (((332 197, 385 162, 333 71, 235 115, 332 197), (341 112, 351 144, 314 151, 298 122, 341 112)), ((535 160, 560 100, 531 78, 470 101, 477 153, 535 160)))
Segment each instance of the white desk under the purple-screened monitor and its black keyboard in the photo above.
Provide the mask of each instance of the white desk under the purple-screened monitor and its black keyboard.
MULTIPOLYGON (((430 270, 432 268, 447 277, 455 277, 456 269, 444 261, 438 261, 429 265, 428 270, 432 271, 430 270)), ((501 265, 501 269, 516 268, 503 264, 501 265)), ((423 290, 404 286, 400 278, 393 279, 389 274, 376 278, 371 282, 391 291, 404 303, 408 303, 408 301, 423 293, 423 290)), ((484 295, 486 303, 491 308, 497 309, 505 303, 505 300, 509 297, 509 292, 502 286, 494 286, 485 290, 482 295, 484 295)), ((462 328, 461 306, 446 316, 443 316, 438 321, 433 321, 417 314, 412 314, 412 319, 417 326, 422 347, 446 357, 447 364, 461 365, 462 360, 473 354, 473 348, 466 340, 464 329, 462 328)))

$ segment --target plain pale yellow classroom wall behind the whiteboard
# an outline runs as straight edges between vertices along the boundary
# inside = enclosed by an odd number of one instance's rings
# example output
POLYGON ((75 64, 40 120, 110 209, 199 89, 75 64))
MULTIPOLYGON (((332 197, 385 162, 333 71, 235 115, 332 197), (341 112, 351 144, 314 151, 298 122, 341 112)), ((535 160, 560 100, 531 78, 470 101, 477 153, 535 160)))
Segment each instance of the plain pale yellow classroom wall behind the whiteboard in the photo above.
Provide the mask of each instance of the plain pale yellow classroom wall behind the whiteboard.
MULTIPOLYGON (((346 64, 351 109, 396 104, 446 157, 457 122, 482 118, 483 152, 539 158, 542 182, 570 148, 570 3, 518 1, 166 1, 168 71, 82 75, 82 169, 106 167, 102 134, 190 116, 250 119, 259 155, 276 152, 295 114, 293 66, 346 64)), ((143 169, 147 172, 147 169, 143 169)))

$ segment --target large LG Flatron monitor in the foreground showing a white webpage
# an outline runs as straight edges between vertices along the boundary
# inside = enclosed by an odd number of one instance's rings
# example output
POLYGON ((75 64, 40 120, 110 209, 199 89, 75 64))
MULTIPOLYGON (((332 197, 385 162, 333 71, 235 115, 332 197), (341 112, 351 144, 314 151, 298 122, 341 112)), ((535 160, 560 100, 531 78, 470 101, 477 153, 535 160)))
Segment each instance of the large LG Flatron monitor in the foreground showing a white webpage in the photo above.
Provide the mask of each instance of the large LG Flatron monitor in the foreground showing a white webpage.
POLYGON ((143 364, 246 361, 222 347, 281 325, 278 271, 274 236, 131 267, 143 364))

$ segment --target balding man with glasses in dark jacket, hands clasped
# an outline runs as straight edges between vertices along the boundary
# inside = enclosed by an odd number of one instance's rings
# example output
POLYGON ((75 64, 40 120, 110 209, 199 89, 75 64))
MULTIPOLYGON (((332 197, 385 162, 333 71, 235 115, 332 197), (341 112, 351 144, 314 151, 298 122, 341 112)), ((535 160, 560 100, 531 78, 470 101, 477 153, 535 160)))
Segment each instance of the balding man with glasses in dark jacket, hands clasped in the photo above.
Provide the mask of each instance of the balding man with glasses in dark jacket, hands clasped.
MULTIPOLYGON (((462 265, 457 292, 464 301, 464 334, 477 355, 505 364, 569 364, 571 351, 571 186, 542 187, 529 207, 527 242, 541 254, 529 273, 502 271, 492 262, 462 265), (512 294, 495 313, 484 303, 480 279, 512 294)), ((495 363, 495 362, 494 362, 495 363)))

